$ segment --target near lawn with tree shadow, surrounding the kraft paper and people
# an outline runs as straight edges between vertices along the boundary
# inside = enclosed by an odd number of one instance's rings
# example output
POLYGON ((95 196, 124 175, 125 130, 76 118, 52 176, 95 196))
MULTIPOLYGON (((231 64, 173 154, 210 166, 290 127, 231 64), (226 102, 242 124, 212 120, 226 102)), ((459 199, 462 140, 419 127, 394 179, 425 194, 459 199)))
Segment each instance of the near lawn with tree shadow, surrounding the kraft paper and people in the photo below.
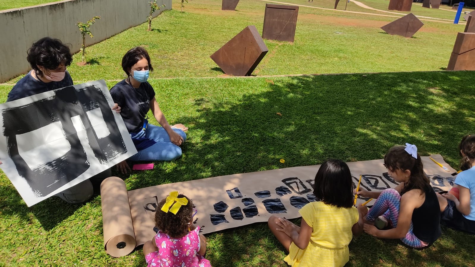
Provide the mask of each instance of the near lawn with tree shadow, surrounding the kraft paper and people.
MULTIPOLYGON (((151 84, 167 119, 190 127, 189 138, 178 160, 131 175, 114 171, 125 178, 128 190, 315 165, 328 158, 379 159, 391 146, 405 142, 416 144, 423 156, 441 154, 457 168, 457 144, 475 128, 473 72, 176 78, 152 79, 151 84)), ((9 89, 0 88, 3 99, 9 89)), ((122 258, 104 252, 101 218, 99 195, 84 205, 53 197, 27 208, 1 175, 0 262, 145 266, 141 249, 122 258)), ((286 266, 283 248, 265 223, 207 238, 207 258, 215 267, 286 266)), ((347 266, 473 266, 475 237, 443 228, 433 247, 415 251, 397 240, 363 235, 353 239, 350 251, 347 266)))

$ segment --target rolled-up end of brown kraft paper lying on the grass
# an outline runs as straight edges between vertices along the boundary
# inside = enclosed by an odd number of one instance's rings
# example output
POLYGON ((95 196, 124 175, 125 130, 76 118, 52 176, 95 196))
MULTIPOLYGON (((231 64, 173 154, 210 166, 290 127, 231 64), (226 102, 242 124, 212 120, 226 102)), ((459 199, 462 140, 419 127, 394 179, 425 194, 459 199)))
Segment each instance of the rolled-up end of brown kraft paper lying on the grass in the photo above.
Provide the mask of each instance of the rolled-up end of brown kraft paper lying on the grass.
POLYGON ((115 258, 125 256, 135 249, 135 235, 123 180, 105 179, 101 183, 101 199, 105 252, 115 258))

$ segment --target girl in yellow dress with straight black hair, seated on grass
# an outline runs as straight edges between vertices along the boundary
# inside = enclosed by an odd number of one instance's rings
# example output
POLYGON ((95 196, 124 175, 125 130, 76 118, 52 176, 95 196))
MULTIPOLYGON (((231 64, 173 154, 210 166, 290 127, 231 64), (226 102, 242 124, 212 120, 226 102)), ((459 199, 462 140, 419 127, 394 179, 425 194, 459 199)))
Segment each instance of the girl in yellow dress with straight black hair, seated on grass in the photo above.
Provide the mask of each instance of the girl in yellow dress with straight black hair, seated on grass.
POLYGON ((315 176, 314 194, 320 201, 308 203, 299 211, 300 227, 273 215, 269 228, 289 252, 284 260, 290 266, 342 267, 350 259, 348 244, 352 236, 362 232, 360 209, 353 206, 348 165, 338 159, 323 162, 315 176))

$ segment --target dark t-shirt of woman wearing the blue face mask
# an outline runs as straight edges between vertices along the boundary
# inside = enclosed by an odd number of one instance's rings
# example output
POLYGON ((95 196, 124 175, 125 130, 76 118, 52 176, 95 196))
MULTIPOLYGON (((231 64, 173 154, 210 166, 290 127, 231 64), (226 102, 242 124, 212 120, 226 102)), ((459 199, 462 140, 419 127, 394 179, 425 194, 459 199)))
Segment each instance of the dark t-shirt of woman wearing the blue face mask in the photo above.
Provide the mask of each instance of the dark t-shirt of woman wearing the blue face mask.
POLYGON ((150 110, 150 101, 155 97, 150 83, 140 83, 135 89, 122 80, 111 89, 112 99, 121 107, 120 115, 129 133, 136 133, 142 129, 143 119, 150 110))

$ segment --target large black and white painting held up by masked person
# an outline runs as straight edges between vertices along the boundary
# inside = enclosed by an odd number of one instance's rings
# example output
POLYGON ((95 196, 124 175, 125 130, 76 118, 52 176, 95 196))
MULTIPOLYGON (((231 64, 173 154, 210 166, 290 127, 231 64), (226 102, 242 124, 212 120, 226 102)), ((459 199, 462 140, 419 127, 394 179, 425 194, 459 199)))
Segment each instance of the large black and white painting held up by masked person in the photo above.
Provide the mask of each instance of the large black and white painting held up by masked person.
POLYGON ((0 105, 0 167, 28 206, 137 153, 104 80, 0 105))

